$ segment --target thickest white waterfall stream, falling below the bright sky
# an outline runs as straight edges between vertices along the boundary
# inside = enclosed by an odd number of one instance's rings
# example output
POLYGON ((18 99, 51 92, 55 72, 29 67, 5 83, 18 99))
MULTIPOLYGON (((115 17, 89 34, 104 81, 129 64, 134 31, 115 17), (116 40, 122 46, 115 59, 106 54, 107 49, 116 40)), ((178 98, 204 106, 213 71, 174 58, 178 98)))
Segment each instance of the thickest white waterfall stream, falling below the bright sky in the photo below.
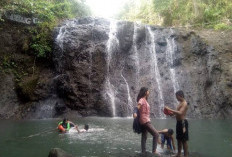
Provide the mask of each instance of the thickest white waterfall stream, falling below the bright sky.
POLYGON ((111 20, 110 21, 109 39, 107 41, 107 60, 106 60, 107 76, 106 76, 106 82, 105 82, 105 92, 106 92, 105 94, 106 94, 106 99, 107 99, 107 97, 110 99, 113 117, 116 116, 116 106, 115 106, 114 86, 110 82, 110 62, 112 59, 112 53, 119 44, 119 41, 116 37, 116 33, 117 33, 117 21, 111 20))

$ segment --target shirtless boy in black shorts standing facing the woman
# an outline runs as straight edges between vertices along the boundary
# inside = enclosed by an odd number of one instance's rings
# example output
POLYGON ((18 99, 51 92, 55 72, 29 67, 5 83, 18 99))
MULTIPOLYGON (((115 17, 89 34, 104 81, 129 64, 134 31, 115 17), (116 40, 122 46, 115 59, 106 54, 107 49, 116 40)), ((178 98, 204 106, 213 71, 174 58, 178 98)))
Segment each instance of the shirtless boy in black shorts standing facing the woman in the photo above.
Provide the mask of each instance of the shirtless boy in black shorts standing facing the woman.
POLYGON ((177 110, 173 110, 167 106, 165 106, 165 109, 173 112, 173 115, 176 116, 176 139, 177 139, 177 145, 178 145, 178 153, 176 154, 176 157, 181 156, 181 149, 182 145, 184 148, 184 157, 188 156, 188 144, 187 141, 189 139, 188 137, 188 121, 185 119, 188 105, 184 98, 184 92, 182 90, 179 90, 176 92, 176 99, 179 101, 179 105, 177 106, 177 110))

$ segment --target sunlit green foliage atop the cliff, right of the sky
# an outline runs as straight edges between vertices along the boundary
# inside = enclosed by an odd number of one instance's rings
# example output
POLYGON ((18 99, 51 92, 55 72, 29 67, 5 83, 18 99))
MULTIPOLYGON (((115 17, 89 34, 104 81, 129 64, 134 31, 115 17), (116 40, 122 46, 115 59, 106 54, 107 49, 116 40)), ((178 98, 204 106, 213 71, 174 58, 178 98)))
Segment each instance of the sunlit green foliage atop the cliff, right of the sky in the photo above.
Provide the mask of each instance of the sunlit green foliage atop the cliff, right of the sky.
POLYGON ((230 29, 232 26, 232 1, 135 0, 134 3, 128 3, 118 18, 164 26, 230 29))

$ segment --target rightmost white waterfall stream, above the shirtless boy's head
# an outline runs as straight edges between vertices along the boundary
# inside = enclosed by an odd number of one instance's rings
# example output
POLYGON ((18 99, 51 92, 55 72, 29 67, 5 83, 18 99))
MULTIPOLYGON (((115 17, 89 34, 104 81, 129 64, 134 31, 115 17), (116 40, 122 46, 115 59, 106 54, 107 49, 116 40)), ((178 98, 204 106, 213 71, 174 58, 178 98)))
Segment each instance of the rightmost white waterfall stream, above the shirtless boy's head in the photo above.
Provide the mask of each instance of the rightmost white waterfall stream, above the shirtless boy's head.
MULTIPOLYGON (((171 29, 171 34, 173 34, 173 30, 171 29)), ((166 51, 166 60, 168 62, 168 67, 171 74, 171 80, 174 88, 174 96, 175 92, 179 89, 178 81, 176 80, 176 72, 174 68, 174 57, 175 57, 175 51, 176 51, 176 44, 175 39, 169 36, 167 39, 167 51, 166 51)))

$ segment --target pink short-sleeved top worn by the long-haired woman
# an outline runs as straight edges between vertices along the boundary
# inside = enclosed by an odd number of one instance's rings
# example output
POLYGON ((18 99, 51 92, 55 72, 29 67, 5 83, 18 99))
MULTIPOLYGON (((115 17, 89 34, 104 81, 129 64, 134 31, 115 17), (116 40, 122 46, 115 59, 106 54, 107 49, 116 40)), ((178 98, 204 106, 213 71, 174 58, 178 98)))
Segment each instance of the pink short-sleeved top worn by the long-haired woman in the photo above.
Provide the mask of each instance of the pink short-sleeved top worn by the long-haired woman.
POLYGON ((148 104, 147 100, 145 98, 139 99, 138 102, 141 106, 139 109, 139 122, 140 124, 145 124, 147 122, 150 122, 150 105, 148 104))

